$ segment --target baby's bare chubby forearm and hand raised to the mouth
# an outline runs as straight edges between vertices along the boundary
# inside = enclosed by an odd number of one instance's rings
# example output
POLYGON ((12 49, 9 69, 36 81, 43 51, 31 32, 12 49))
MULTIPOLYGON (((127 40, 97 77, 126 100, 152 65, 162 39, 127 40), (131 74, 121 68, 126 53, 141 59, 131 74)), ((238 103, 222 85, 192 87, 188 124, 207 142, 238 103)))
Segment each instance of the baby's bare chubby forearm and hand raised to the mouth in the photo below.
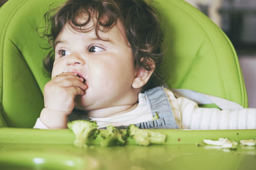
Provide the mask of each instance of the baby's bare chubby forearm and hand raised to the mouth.
POLYGON ((44 88, 45 108, 40 113, 40 122, 49 129, 67 128, 75 97, 84 95, 87 89, 83 81, 76 73, 61 73, 52 78, 44 88))

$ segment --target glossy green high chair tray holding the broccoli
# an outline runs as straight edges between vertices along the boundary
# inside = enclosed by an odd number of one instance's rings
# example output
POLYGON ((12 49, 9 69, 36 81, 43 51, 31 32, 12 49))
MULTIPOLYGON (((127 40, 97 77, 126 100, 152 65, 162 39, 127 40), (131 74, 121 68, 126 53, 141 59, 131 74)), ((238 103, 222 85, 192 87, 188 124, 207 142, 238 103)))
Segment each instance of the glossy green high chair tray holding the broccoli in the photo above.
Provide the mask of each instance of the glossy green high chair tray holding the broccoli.
MULTIPOLYGON (((156 131, 156 130, 155 130, 156 131)), ((255 169, 255 146, 236 150, 203 145, 204 139, 255 139, 256 130, 157 130, 167 135, 164 145, 101 148, 100 138, 87 148, 73 145, 65 130, 0 129, 0 169, 255 169)))

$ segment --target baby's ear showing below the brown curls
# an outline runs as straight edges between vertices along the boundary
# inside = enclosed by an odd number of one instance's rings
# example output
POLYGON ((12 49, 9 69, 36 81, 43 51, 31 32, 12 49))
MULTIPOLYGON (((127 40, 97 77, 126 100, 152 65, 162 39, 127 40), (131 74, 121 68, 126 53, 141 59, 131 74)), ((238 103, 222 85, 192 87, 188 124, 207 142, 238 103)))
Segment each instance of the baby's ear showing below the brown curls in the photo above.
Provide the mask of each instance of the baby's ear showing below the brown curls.
POLYGON ((138 67, 136 74, 134 76, 134 80, 132 81, 132 87, 134 89, 139 89, 143 87, 149 80, 152 73, 154 72, 156 66, 154 61, 148 60, 148 62, 150 62, 150 66, 152 69, 148 71, 142 66, 138 67))

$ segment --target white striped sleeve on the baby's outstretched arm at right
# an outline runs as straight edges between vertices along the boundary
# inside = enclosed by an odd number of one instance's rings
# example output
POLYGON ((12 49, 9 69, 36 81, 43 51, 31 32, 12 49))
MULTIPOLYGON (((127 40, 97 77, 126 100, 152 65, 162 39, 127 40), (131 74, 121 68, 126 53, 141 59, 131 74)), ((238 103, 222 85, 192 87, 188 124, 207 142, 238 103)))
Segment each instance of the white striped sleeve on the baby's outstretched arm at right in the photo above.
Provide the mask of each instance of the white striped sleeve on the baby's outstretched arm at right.
POLYGON ((177 98, 182 129, 256 129, 256 109, 219 110, 199 108, 184 97, 177 98))

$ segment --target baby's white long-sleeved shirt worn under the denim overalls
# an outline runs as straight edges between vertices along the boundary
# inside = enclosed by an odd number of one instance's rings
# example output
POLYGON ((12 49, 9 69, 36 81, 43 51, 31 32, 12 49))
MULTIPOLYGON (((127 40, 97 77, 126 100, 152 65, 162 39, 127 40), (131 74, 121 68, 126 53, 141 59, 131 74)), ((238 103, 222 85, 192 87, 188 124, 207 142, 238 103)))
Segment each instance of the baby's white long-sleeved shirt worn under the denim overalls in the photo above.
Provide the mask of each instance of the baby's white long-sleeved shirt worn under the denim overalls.
MULTIPOLYGON (((173 92, 164 89, 172 106, 175 122, 180 129, 256 129, 256 109, 219 110, 217 108, 199 108, 198 104, 185 97, 175 97, 173 92)), ((138 106, 127 113, 107 118, 92 118, 99 127, 138 124, 152 120, 150 106, 145 95, 139 94, 138 106)), ((48 129, 40 118, 34 128, 48 129)))

